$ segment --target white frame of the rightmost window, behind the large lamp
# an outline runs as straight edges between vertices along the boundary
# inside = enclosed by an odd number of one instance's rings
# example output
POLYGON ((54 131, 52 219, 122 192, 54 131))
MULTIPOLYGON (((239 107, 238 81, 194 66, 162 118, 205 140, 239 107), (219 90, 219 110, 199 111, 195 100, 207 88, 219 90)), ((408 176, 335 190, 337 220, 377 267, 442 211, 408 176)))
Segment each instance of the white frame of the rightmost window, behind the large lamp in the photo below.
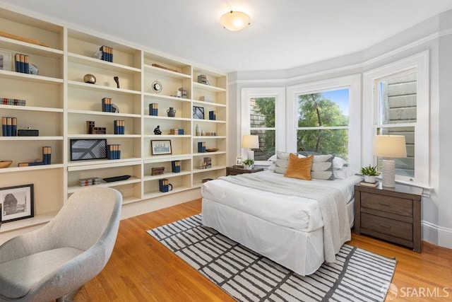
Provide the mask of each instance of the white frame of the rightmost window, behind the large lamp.
MULTIPOLYGON (((386 64, 376 69, 371 69, 363 74, 363 138, 362 138, 362 165, 376 165, 377 158, 373 155, 373 140, 377 129, 379 112, 378 93, 375 91, 377 81, 396 76, 410 70, 417 72, 417 120, 415 122, 415 178, 396 175, 396 182, 405 182, 420 187, 429 187, 430 163, 429 163, 429 51, 414 54, 405 59, 386 64), (419 114, 422 112, 422 114, 419 114)), ((412 126, 413 123, 410 123, 412 126)), ((402 127, 403 124, 396 124, 402 127)))

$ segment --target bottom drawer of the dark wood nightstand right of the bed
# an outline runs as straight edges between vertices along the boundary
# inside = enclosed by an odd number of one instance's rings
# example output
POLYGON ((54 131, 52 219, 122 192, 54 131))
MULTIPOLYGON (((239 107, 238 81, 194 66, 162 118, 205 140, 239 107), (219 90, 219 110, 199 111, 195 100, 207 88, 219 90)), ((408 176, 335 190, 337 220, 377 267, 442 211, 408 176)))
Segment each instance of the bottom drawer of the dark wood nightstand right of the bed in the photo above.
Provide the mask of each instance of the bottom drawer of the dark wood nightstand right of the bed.
POLYGON ((412 241, 412 223, 362 213, 361 228, 412 241))

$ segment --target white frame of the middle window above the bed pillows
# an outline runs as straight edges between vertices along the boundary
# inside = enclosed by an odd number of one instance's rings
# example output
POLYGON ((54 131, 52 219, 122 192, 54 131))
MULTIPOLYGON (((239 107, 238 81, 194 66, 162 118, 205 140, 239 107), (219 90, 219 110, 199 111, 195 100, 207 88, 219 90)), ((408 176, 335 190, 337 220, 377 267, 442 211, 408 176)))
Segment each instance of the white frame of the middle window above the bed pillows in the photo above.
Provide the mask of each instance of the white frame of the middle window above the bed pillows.
MULTIPOLYGON (((288 111, 286 117, 286 150, 297 152, 298 127, 298 95, 318 93, 348 88, 349 90, 349 123, 345 127, 309 127, 309 129, 348 129, 348 158, 350 167, 359 170, 361 163, 361 74, 343 76, 323 81, 314 81, 287 87, 288 111)), ((305 128, 307 129, 307 128, 305 128)))

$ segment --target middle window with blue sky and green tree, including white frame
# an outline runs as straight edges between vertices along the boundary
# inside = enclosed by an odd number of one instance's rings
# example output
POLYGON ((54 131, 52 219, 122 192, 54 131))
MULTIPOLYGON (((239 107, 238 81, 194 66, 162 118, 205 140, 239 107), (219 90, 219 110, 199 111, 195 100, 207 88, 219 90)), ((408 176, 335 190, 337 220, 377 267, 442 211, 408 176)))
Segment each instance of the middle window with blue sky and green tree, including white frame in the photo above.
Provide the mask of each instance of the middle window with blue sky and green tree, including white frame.
POLYGON ((360 165, 361 76, 345 76, 288 88, 287 150, 334 154, 360 165))

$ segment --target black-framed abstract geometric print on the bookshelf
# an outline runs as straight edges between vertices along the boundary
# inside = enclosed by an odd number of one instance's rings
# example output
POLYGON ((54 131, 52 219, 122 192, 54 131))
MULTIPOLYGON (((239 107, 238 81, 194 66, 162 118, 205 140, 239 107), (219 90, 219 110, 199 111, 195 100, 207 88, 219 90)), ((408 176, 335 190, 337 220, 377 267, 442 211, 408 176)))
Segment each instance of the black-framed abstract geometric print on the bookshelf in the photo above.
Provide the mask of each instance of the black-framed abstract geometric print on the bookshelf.
POLYGON ((71 161, 107 158, 107 139, 71 139, 71 161))

